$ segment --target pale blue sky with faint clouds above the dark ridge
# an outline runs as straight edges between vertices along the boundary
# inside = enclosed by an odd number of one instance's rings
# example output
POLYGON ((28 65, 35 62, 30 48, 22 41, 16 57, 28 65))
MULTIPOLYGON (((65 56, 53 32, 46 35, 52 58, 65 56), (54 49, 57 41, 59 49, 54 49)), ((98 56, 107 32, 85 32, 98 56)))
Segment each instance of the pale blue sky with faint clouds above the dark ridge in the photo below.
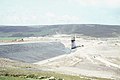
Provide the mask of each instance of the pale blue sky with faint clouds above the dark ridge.
POLYGON ((0 25, 120 25, 120 0, 0 0, 0 25))

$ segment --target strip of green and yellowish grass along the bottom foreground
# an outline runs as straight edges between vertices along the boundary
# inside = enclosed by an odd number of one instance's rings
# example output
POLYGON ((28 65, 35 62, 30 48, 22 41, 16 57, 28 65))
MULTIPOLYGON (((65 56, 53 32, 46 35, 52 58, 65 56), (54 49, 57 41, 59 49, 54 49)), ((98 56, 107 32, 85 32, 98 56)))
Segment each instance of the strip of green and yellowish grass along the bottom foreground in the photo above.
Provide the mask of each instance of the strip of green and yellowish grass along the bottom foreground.
POLYGON ((72 76, 72 75, 65 75, 56 72, 49 72, 49 71, 35 71, 35 70, 28 70, 28 69, 16 69, 16 68, 0 68, 0 80, 28 80, 28 78, 32 80, 44 80, 38 79, 39 77, 49 78, 51 76, 55 77, 55 80, 64 79, 64 80, 110 80, 105 78, 96 78, 96 77, 87 77, 87 76, 72 76), (7 79, 9 78, 10 79, 7 79))

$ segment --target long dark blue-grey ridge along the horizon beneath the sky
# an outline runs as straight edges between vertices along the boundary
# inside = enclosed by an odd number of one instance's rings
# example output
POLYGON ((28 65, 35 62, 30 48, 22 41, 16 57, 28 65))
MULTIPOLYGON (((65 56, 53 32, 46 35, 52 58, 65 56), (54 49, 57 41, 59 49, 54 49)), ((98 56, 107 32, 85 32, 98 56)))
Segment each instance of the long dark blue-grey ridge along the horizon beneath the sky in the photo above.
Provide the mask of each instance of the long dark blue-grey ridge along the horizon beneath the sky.
POLYGON ((36 26, 0 26, 1 37, 29 37, 60 34, 82 34, 91 37, 120 36, 119 25, 63 24, 36 26))

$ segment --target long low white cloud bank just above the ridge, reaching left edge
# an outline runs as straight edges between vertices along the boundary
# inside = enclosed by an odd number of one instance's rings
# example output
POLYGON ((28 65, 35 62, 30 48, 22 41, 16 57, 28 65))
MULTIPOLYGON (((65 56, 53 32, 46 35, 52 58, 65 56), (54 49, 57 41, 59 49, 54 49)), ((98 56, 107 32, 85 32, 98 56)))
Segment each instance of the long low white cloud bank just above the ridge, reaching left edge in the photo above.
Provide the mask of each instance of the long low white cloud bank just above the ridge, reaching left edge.
POLYGON ((68 24, 79 22, 79 17, 72 15, 58 15, 52 12, 46 14, 12 14, 0 16, 1 24, 30 25, 30 24, 68 24))

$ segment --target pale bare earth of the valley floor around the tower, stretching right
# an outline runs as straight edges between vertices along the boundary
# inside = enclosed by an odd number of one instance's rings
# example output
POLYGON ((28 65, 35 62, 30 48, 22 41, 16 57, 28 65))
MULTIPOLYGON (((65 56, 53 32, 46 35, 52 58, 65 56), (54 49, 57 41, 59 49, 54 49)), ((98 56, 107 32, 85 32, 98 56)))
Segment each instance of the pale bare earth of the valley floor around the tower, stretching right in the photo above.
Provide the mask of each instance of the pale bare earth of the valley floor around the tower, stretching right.
MULTIPOLYGON (((70 38, 59 40, 70 48, 70 38)), ((120 38, 77 38, 76 43, 84 46, 34 64, 65 74, 120 79, 120 38)))

